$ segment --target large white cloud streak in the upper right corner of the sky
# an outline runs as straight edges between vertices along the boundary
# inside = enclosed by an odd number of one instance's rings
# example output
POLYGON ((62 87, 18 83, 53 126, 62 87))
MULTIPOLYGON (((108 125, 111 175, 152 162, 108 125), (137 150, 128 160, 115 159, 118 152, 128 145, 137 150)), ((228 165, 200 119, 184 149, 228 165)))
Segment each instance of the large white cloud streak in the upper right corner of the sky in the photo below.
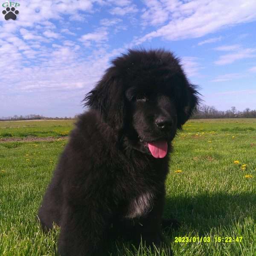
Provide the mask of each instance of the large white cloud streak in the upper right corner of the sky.
MULTIPOLYGON (((256 2, 252 0, 234 0, 232 4, 229 0, 165 0, 162 3, 162 9, 169 12, 169 23, 144 35, 136 44, 156 37, 166 40, 198 38, 227 26, 256 20, 256 2)), ((148 23, 157 18, 152 11, 148 23)))

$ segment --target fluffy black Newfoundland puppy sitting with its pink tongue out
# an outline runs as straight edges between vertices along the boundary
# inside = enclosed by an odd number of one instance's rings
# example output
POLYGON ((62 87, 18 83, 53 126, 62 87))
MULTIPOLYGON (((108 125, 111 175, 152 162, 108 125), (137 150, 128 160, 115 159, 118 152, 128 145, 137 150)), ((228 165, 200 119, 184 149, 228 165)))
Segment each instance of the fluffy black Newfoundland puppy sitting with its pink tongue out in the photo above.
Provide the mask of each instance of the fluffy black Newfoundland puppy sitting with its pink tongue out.
POLYGON ((84 98, 38 212, 44 229, 60 226, 61 256, 105 256, 116 236, 161 244, 171 143, 197 95, 171 52, 112 61, 84 98))

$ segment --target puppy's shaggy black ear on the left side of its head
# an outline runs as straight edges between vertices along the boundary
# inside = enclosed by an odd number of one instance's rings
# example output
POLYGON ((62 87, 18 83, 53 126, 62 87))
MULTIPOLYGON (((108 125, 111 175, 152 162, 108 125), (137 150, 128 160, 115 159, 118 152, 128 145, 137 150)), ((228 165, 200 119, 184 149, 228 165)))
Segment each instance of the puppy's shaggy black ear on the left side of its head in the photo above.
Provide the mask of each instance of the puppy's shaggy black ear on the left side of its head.
POLYGON ((84 97, 84 106, 98 111, 104 121, 113 129, 123 127, 125 120, 125 96, 122 81, 113 76, 108 69, 96 87, 84 97))

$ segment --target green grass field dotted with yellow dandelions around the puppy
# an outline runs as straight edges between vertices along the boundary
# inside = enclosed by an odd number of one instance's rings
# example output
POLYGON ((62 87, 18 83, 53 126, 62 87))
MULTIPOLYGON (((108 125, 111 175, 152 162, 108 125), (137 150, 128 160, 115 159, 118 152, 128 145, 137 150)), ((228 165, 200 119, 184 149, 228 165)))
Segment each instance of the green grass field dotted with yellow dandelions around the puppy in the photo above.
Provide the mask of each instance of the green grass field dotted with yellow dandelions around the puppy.
MULTIPOLYGON (((60 137, 72 127, 70 120, 0 122, 0 139, 56 137, 0 140, 1 256, 55 255, 58 228, 44 234, 35 216, 67 143, 60 137)), ((256 119, 191 120, 173 145, 165 217, 177 218, 181 226, 165 235, 174 255, 256 256, 256 119)), ((116 251, 169 255, 146 248, 134 252, 120 242, 116 251)))

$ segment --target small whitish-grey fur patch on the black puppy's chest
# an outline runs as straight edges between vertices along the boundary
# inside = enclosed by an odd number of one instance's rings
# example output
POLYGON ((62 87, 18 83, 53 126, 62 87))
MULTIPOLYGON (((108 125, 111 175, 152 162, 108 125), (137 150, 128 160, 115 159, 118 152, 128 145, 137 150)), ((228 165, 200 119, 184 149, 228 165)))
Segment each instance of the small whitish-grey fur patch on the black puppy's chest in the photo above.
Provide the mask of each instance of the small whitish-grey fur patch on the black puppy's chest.
POLYGON ((142 192, 128 201, 125 218, 139 218, 146 215, 153 209, 154 194, 152 192, 142 192))

